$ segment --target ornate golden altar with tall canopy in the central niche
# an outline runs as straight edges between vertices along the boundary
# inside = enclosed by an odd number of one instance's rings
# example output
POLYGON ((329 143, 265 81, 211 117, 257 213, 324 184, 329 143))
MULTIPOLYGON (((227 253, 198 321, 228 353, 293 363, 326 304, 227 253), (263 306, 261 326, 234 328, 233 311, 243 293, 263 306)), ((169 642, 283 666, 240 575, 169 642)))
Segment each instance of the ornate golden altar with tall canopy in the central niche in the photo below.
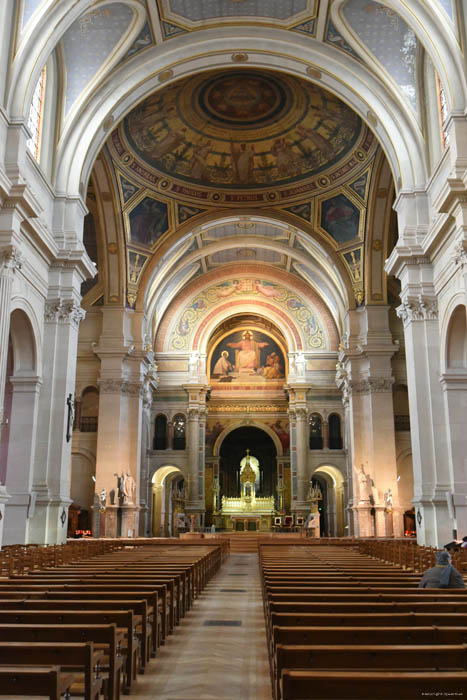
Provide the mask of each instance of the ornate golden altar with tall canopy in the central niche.
POLYGON ((271 530, 275 511, 274 496, 258 497, 259 463, 246 451, 240 462, 239 497, 222 497, 222 507, 216 513, 216 525, 225 530, 271 530))

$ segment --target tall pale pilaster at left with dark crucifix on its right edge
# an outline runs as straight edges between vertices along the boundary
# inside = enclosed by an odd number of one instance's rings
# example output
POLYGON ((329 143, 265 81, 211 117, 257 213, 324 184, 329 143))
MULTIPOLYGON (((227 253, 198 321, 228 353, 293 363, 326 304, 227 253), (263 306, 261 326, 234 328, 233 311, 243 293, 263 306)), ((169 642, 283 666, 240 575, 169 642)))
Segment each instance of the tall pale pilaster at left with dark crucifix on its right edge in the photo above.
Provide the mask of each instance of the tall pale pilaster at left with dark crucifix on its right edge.
POLYGON ((37 493, 29 542, 66 541, 70 500, 72 414, 79 323, 85 312, 76 299, 51 299, 44 315, 42 389, 32 490, 37 493))

